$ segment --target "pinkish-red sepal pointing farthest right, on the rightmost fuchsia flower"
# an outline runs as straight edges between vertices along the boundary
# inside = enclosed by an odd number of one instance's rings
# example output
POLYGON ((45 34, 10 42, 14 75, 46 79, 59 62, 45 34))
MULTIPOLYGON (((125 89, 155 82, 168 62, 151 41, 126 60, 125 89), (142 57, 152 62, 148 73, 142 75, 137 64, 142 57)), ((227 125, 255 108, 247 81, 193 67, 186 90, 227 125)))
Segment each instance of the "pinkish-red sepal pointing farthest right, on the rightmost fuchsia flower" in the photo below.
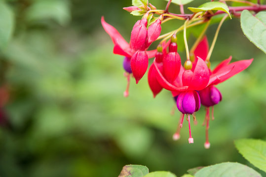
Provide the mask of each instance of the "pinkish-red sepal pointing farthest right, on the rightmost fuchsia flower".
POLYGON ((228 64, 227 66, 221 68, 219 70, 220 71, 225 71, 228 69, 228 67, 231 67, 232 69, 225 75, 220 77, 220 81, 216 84, 222 83, 225 80, 228 80, 230 77, 240 73, 241 71, 245 70, 253 61, 253 59, 246 59, 246 60, 240 60, 240 61, 236 61, 236 62, 232 62, 230 64, 228 64))

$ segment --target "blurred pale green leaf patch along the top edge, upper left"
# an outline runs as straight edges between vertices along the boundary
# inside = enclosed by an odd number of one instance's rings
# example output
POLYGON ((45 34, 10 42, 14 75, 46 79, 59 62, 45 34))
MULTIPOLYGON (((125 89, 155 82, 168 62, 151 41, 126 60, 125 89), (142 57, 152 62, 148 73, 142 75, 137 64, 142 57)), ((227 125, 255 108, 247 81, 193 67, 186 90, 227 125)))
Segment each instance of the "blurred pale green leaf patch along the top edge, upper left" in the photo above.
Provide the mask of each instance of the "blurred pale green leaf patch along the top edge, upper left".
POLYGON ((26 20, 35 23, 52 19, 60 25, 66 25, 70 18, 68 0, 36 0, 26 13, 26 20))

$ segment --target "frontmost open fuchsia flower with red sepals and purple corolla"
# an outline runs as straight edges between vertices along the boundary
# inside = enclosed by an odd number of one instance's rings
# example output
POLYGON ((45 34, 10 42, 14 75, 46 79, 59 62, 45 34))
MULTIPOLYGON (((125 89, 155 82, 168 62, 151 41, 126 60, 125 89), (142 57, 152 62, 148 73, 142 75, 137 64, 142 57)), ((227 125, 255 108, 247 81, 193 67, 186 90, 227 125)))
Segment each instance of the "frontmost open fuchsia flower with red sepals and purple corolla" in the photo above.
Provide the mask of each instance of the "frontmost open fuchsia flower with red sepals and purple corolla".
MULTIPOLYGON (((170 83, 159 70, 157 63, 155 61, 153 63, 156 69, 156 78, 158 83, 164 89, 171 90, 174 97, 177 96, 177 108, 183 114, 180 121, 180 127, 183 125, 184 116, 186 114, 187 120, 189 122, 189 130, 190 114, 193 114, 200 108, 200 97, 198 90, 205 89, 207 86, 217 82, 220 77, 228 74, 233 67, 229 66, 224 70, 218 71, 210 76, 209 69, 205 61, 203 59, 197 58, 190 69, 185 70, 181 66, 177 78, 173 81, 173 83, 170 83)), ((171 70, 168 72, 171 72, 171 70)), ((189 143, 193 143, 191 130, 189 143)))

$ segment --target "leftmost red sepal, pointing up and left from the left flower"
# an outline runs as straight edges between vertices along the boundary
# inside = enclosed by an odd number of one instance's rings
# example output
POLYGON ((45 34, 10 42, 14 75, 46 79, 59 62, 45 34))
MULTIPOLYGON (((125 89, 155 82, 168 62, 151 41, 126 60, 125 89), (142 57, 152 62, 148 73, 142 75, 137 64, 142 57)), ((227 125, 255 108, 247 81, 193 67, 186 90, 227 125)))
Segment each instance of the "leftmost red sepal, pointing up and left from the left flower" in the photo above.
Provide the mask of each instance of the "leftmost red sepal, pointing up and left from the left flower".
POLYGON ((130 45, 125 41, 121 34, 110 24, 106 23, 104 17, 101 19, 102 26, 110 35, 114 43, 114 54, 131 57, 130 45))

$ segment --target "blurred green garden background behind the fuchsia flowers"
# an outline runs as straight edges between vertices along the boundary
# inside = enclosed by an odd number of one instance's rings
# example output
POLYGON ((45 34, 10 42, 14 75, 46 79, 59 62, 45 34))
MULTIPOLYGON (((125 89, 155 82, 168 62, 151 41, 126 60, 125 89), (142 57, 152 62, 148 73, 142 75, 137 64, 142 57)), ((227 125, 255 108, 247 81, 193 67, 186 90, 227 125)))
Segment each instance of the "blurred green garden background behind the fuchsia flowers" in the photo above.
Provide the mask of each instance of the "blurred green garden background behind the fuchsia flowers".
MULTIPOLYGON (((150 2, 158 9, 167 3, 150 2)), ((172 140, 180 114, 170 115, 174 101, 169 91, 153 99, 147 74, 137 86, 132 80, 129 97, 123 97, 123 57, 113 55, 112 40, 100 18, 105 16, 129 41, 140 19, 122 9, 131 5, 130 0, 1 0, 0 4, 14 19, 12 37, 0 48, 0 177, 117 177, 127 164, 177 176, 193 167, 227 161, 253 167, 233 141, 266 140, 266 55, 244 36, 239 19, 224 23, 212 68, 230 55, 233 61, 254 61, 218 86, 223 101, 215 106, 211 148, 205 149, 203 107, 196 114, 198 124, 191 127, 194 144, 189 144, 186 121, 181 139, 172 140)), ((170 11, 179 13, 179 7, 172 4, 170 11)), ((169 21, 162 32, 180 25, 169 21)), ((207 30, 209 42, 216 28, 217 24, 207 30)), ((191 35, 190 47, 194 40, 191 35)), ((182 42, 179 52, 185 60, 182 42)))

